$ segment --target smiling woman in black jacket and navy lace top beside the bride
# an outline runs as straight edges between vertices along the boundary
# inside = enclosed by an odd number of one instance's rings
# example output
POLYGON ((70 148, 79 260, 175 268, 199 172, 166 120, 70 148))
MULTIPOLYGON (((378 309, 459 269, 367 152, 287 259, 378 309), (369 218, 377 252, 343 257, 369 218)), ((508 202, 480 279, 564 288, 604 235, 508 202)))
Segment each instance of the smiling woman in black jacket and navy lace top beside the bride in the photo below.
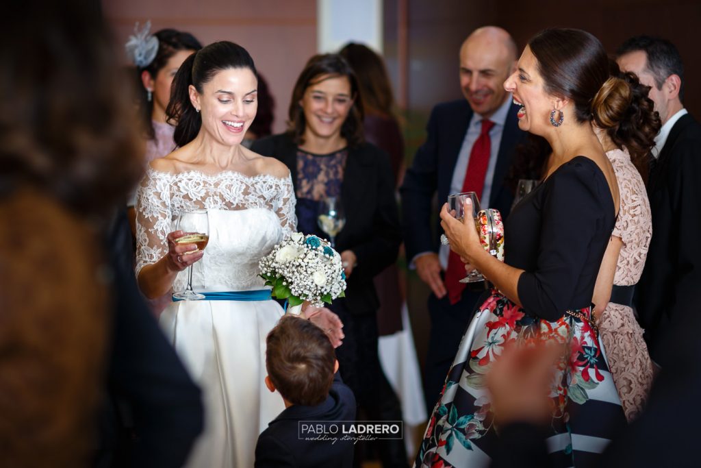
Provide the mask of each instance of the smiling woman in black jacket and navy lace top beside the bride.
MULTIPOLYGON (((341 377, 369 420, 401 420, 399 400, 380 366, 373 284, 374 276, 397 259, 399 215, 389 157, 363 141, 359 93, 355 73, 341 55, 315 55, 292 91, 290 130, 256 140, 252 149, 290 168, 300 232, 328 238, 318 226, 320 201, 340 199, 346 223, 335 246, 348 286, 346 297, 329 308, 343 321, 346 335, 336 349, 341 377)), ((379 451, 383 466, 407 465, 401 440, 381 441, 379 451)))

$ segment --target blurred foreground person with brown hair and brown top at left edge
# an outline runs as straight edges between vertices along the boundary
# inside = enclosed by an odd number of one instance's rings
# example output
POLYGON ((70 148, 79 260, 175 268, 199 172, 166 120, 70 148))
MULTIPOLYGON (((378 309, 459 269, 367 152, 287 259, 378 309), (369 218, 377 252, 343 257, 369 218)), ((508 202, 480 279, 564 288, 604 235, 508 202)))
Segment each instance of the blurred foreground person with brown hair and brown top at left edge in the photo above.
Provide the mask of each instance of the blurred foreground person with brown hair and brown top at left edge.
POLYGON ((107 370, 101 241, 140 152, 97 8, 39 3, 0 19, 0 465, 81 467, 107 370))

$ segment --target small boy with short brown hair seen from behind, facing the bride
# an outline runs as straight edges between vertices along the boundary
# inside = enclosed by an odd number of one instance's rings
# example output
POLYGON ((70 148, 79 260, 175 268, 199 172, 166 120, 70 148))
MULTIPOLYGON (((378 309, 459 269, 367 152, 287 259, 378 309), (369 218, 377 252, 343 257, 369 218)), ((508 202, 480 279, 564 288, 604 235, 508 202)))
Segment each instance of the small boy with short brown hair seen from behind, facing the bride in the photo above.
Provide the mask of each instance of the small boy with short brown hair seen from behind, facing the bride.
POLYGON ((285 410, 259 436, 256 468, 352 467, 353 441, 300 432, 303 421, 355 420, 355 397, 341 382, 329 338, 310 321, 284 316, 266 345, 265 383, 283 396, 285 410))

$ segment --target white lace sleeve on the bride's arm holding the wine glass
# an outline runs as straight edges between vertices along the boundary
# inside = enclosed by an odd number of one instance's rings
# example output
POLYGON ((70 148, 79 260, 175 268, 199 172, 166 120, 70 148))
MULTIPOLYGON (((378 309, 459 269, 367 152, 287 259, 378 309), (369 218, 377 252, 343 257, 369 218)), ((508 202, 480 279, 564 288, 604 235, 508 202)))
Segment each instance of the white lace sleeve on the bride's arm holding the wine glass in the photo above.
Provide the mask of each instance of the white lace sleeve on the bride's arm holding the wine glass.
POLYGON ((137 190, 136 203, 136 275, 146 265, 168 252, 165 240, 170 232, 170 175, 147 171, 137 190))

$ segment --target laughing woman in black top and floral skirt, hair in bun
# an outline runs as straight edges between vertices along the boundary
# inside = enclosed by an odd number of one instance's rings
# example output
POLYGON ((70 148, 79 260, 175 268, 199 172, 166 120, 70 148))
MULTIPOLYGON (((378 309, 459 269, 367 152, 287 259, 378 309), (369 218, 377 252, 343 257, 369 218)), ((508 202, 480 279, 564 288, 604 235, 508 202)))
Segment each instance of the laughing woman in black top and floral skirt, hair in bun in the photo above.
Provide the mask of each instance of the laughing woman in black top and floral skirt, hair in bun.
POLYGON ((531 39, 504 83, 522 105, 519 128, 545 138, 552 156, 543 184, 506 221, 505 262, 482 250, 472 220, 461 223, 442 210, 451 249, 495 288, 465 332, 418 465, 489 464, 498 427, 484 375, 512 342, 563 345, 550 386, 553 466, 596 466, 625 425, 591 316, 594 282, 618 213, 618 182, 591 121, 627 106, 615 91, 620 87, 603 86, 609 79, 615 78, 594 36, 547 29, 531 39))

